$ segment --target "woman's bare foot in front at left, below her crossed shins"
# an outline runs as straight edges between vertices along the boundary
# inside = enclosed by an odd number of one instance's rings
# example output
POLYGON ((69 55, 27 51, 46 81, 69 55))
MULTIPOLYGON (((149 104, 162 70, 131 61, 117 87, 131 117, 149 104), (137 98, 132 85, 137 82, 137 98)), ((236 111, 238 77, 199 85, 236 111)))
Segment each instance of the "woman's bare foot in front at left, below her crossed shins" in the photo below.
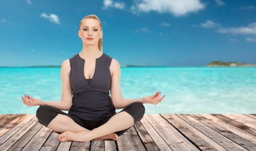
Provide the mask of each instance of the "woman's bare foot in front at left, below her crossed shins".
MULTIPOLYGON (((83 133, 87 133, 87 132, 88 131, 83 131, 83 133)), ((58 137, 58 140, 60 140, 61 142, 68 142, 68 141, 83 142, 80 136, 81 134, 73 133, 71 131, 65 131, 64 133, 60 134, 60 136, 58 137)))

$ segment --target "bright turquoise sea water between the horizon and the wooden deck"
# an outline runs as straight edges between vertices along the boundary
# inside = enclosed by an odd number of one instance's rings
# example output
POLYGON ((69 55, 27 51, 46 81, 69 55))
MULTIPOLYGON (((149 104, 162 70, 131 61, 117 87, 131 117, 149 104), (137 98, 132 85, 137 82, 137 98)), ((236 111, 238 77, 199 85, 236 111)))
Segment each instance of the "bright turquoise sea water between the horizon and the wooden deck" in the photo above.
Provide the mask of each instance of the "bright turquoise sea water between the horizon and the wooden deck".
MULTIPOLYGON (((28 94, 44 101, 61 99, 60 67, 0 68, 0 113, 35 114, 28 94)), ((256 67, 121 67, 124 98, 143 98, 161 91, 145 114, 256 113, 256 67)), ((116 109, 116 112, 122 109, 116 109)), ((67 111, 64 111, 67 112, 67 111)))

